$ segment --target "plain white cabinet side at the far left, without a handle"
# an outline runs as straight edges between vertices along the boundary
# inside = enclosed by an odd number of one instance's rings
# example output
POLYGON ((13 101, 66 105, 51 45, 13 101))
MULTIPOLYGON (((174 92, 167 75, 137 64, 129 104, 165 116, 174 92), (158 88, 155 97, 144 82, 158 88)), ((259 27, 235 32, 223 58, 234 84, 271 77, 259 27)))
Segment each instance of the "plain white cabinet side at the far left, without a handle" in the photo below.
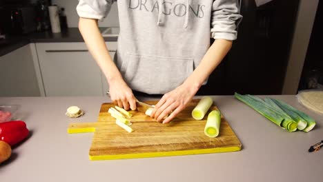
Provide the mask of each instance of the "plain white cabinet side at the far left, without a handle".
POLYGON ((0 57, 0 97, 39 97, 41 90, 30 45, 0 57))

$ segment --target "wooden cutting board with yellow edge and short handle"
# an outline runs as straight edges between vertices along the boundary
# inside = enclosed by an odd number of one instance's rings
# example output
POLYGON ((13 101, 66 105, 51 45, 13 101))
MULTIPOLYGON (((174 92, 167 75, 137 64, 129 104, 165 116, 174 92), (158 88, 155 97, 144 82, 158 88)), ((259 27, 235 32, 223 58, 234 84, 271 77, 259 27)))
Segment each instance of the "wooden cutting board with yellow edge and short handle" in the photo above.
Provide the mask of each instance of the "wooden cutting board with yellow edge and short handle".
MULTIPOLYGON (((241 150, 242 144, 222 116, 219 136, 204 134, 207 114, 203 120, 191 117, 199 99, 194 99, 185 110, 168 124, 158 123, 144 113, 130 111, 133 132, 120 128, 108 113, 113 103, 103 103, 95 123, 70 123, 68 133, 95 132, 90 147, 90 160, 133 159, 154 156, 206 154, 241 150)), ((147 101, 155 105, 157 101, 147 101)), ((211 110, 217 110, 213 105, 211 110)))

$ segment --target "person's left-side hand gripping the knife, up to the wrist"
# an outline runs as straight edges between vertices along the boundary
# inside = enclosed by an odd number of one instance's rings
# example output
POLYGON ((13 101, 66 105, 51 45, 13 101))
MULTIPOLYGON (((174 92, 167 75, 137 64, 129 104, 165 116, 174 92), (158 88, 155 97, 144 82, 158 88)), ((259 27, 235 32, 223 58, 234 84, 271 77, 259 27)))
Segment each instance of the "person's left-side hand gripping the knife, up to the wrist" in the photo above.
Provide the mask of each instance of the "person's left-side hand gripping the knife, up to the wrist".
POLYGON ((124 80, 110 81, 109 83, 110 99, 120 108, 125 110, 136 110, 136 98, 127 83, 124 80))

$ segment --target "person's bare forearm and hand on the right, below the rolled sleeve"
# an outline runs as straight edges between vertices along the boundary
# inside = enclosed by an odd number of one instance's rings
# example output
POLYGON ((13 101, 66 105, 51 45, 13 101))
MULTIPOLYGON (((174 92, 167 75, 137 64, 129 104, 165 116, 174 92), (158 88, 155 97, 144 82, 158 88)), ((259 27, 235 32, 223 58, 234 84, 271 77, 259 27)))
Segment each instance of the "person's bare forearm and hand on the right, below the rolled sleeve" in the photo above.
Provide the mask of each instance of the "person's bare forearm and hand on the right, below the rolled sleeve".
POLYGON ((204 55, 201 63, 197 66, 190 77, 175 90, 164 94, 155 106, 151 117, 161 121, 170 114, 163 123, 168 123, 179 112, 184 110, 188 103, 193 99, 202 83, 210 76, 211 72, 219 65, 226 53, 231 49, 232 41, 217 39, 204 55))

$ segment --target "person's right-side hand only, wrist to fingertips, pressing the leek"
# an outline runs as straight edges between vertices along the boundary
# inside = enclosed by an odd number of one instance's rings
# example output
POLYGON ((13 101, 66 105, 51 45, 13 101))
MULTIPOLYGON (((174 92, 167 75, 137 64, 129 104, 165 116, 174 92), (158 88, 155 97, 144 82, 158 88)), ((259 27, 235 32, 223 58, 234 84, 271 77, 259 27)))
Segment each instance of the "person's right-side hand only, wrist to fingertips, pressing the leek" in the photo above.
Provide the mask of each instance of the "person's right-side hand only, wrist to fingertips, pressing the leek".
POLYGON ((187 83, 179 85, 175 90, 172 90, 161 97, 160 101, 155 105, 151 117, 158 122, 166 117, 163 124, 168 123, 174 119, 179 112, 186 108, 188 103, 190 103, 195 96, 197 90, 199 90, 199 87, 193 87, 187 83))

